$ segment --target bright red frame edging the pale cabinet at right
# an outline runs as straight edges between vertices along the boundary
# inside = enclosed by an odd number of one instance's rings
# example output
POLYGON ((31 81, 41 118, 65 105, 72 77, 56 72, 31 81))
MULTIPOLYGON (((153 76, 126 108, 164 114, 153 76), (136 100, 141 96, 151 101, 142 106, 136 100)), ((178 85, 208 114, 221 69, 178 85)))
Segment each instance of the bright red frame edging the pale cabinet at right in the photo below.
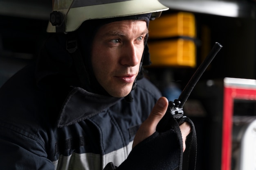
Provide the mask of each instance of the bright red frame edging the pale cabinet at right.
POLYGON ((221 170, 231 170, 232 124, 234 99, 256 100, 255 85, 224 83, 221 170))

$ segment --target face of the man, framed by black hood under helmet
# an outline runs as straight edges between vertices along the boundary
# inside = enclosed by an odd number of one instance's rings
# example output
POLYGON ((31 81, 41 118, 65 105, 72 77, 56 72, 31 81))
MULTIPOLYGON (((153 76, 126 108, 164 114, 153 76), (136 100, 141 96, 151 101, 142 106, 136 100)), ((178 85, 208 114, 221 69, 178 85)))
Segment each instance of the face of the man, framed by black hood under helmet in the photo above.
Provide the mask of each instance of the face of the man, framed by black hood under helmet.
POLYGON ((97 81, 111 96, 130 93, 147 33, 144 20, 111 22, 97 31, 92 42, 92 68, 97 81))

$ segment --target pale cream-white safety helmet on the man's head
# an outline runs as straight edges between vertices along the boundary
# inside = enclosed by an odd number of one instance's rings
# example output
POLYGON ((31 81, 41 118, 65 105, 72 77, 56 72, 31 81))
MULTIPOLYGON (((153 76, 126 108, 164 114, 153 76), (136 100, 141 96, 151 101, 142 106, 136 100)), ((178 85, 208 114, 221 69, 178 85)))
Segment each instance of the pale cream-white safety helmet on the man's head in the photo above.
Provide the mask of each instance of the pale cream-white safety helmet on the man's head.
POLYGON ((168 7, 158 0, 54 0, 47 32, 72 32, 86 20, 152 13, 159 17, 168 7))

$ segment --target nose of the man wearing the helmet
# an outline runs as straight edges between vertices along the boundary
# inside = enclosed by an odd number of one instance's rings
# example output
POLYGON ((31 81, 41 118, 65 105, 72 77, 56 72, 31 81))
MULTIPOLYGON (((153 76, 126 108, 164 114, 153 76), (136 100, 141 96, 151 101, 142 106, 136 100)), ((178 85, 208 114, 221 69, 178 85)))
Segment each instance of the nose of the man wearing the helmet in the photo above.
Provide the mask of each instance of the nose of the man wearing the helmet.
MULTIPOLYGON (((142 49, 143 52, 144 48, 142 49)), ((122 49, 121 65, 127 65, 133 67, 140 63, 142 57, 141 49, 134 44, 127 44, 125 48, 122 49)))

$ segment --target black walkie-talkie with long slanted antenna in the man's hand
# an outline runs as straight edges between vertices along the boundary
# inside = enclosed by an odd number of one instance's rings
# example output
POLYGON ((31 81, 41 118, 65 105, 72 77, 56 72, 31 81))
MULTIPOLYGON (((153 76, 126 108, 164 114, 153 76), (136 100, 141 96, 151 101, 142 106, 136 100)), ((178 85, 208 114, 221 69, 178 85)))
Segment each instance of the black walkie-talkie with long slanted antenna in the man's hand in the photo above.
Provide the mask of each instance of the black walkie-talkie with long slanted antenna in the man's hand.
POLYGON ((211 63, 211 61, 214 59, 214 57, 220 51, 221 48, 222 45, 216 42, 211 51, 209 52, 209 54, 207 55, 207 57, 200 64, 198 69, 195 71, 195 73, 187 83, 186 87, 181 92, 179 98, 175 99, 174 101, 169 101, 166 114, 157 125, 158 132, 163 132, 171 128, 171 124, 168 121, 171 117, 174 117, 179 125, 186 121, 186 116, 184 116, 183 112, 183 106, 186 100, 189 98, 189 95, 192 92, 193 88, 195 87, 196 83, 198 82, 204 71, 207 69, 208 65, 211 63))

